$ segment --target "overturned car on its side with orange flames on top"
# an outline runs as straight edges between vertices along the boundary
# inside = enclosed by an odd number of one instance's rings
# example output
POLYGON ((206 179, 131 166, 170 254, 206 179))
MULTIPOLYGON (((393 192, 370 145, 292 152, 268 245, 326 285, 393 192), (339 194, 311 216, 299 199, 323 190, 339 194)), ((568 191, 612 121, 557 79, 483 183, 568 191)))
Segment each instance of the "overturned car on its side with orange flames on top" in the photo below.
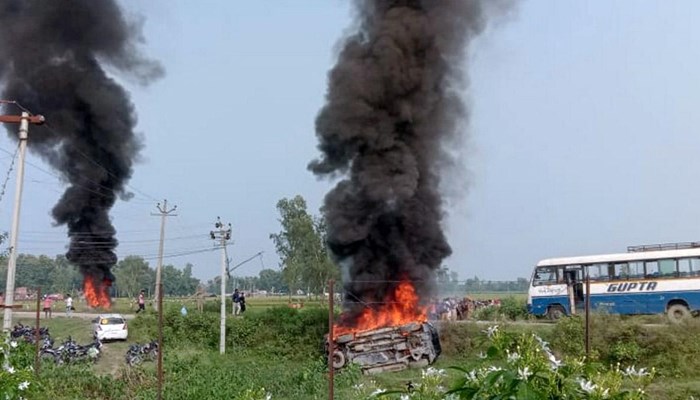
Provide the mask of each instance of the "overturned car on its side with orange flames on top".
POLYGON ((418 305, 413 286, 399 284, 392 300, 373 309, 367 307, 352 326, 341 319, 333 329, 333 340, 326 335, 326 353, 332 350, 333 368, 349 363, 359 365, 365 374, 425 367, 440 355, 437 329, 427 322, 418 305))

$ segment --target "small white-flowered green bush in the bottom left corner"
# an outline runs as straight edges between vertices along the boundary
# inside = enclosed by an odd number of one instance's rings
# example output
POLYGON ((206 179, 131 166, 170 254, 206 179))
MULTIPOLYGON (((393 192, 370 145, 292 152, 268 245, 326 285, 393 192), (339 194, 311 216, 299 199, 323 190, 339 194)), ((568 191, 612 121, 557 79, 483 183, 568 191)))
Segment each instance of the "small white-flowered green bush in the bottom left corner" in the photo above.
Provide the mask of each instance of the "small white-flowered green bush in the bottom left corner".
POLYGON ((11 339, 9 334, 0 342, 0 399, 32 397, 36 391, 32 354, 31 346, 11 339))

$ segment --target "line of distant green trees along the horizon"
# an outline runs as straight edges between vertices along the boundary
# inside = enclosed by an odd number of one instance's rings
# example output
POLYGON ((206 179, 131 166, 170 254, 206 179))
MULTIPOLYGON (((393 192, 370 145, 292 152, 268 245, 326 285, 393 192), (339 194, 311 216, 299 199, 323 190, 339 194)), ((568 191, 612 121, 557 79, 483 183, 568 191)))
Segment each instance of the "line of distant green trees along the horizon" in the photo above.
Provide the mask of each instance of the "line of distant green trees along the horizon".
MULTIPOLYGON (((326 224, 323 218, 309 213, 302 196, 283 198, 277 202, 281 230, 270 234, 270 239, 280 259, 278 269, 263 269, 257 276, 231 276, 227 279, 227 292, 234 288, 245 291, 264 290, 268 293, 311 293, 327 291, 330 279, 340 281, 341 274, 325 244, 326 224)), ((0 243, 6 235, 0 235, 0 243)), ((219 293, 221 277, 201 282, 193 276, 194 265, 163 266, 163 294, 165 296, 191 296, 202 285, 209 293, 219 293)), ((135 297, 141 290, 155 292, 155 269, 139 256, 127 256, 113 268, 115 282, 112 295, 135 297)), ((0 254, 0 291, 7 277, 7 254, 0 254)), ((35 289, 44 293, 78 293, 83 278, 65 256, 20 254, 17 258, 15 287, 35 289)), ((456 271, 443 267, 436 271, 440 293, 473 292, 522 292, 529 281, 484 281, 477 277, 460 281, 456 271)), ((339 282, 340 283, 340 282, 339 282)), ((339 284, 338 287, 341 287, 339 284)))

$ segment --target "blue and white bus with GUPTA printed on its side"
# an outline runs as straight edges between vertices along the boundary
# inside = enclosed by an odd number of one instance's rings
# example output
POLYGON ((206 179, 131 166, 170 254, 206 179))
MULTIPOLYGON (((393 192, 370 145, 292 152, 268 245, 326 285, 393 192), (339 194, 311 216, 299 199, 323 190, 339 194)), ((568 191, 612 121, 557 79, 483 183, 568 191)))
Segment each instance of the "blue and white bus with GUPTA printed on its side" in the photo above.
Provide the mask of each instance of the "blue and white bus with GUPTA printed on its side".
POLYGON ((673 321, 700 312, 700 243, 629 247, 627 253, 550 258, 537 263, 528 311, 558 319, 585 311, 666 313, 673 321))

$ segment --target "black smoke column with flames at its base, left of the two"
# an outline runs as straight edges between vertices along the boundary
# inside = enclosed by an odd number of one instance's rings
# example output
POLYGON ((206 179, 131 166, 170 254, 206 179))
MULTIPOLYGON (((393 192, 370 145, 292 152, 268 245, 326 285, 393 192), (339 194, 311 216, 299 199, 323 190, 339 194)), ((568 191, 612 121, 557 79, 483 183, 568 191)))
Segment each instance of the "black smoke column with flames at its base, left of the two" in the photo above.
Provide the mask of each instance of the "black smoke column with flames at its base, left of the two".
MULTIPOLYGON (((140 27, 114 0, 1 0, 0 26, 0 96, 46 117, 49 128, 32 130, 29 149, 68 184, 52 211, 68 227, 66 257, 80 267, 90 302, 108 306, 117 261, 109 210, 129 197, 142 145, 129 95, 103 65, 142 84, 162 68, 138 53, 140 27)), ((16 127, 8 133, 16 137, 16 127)))

